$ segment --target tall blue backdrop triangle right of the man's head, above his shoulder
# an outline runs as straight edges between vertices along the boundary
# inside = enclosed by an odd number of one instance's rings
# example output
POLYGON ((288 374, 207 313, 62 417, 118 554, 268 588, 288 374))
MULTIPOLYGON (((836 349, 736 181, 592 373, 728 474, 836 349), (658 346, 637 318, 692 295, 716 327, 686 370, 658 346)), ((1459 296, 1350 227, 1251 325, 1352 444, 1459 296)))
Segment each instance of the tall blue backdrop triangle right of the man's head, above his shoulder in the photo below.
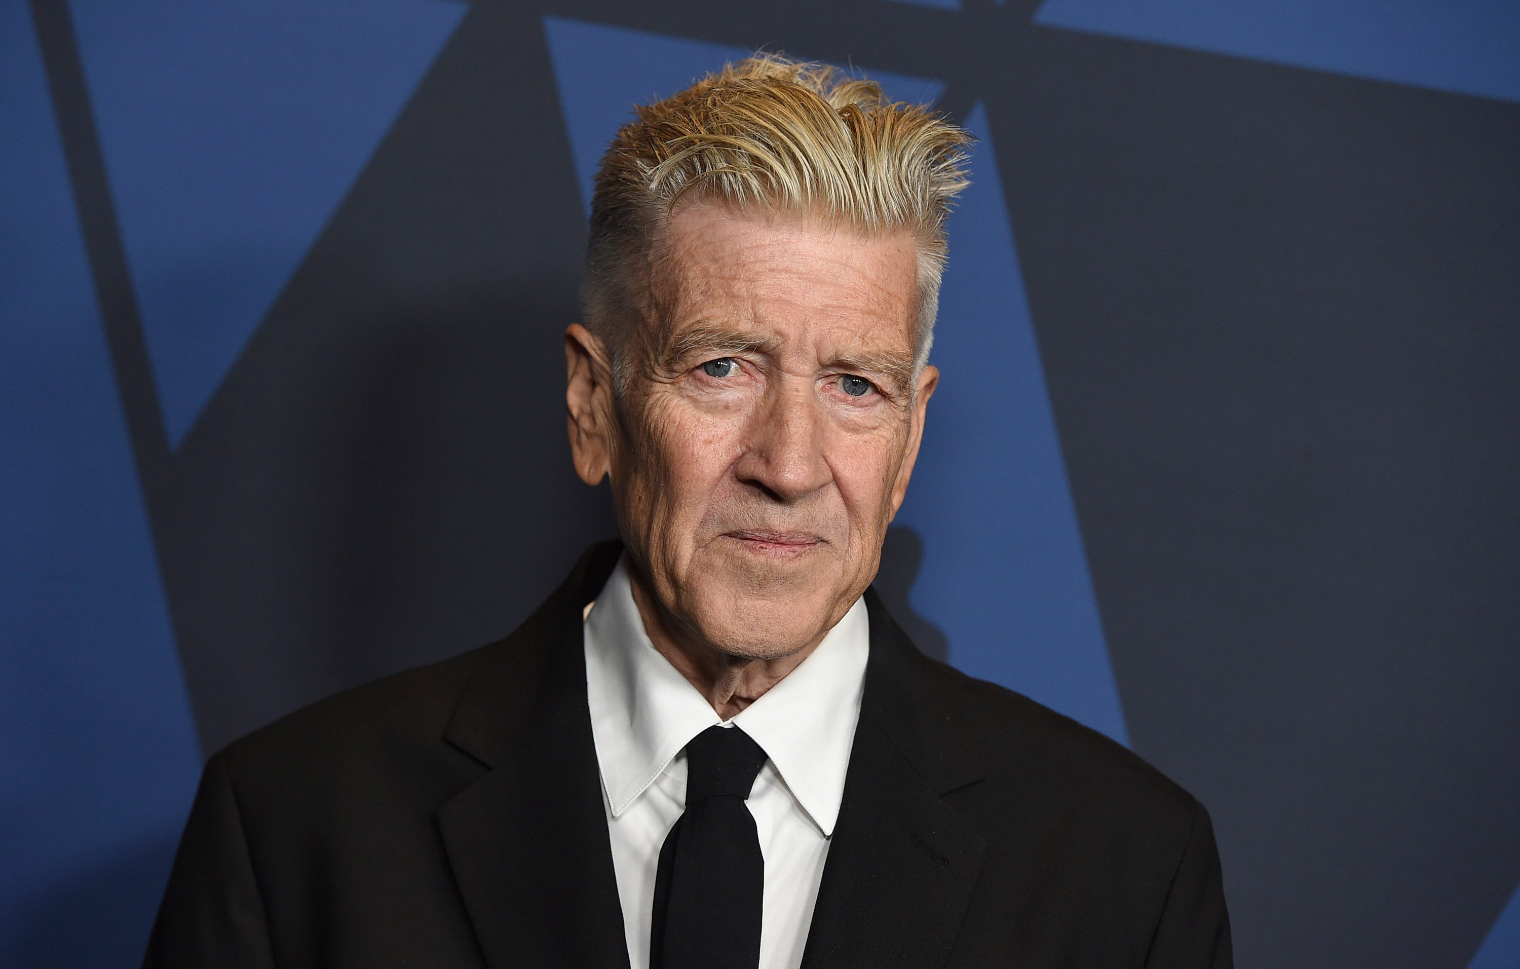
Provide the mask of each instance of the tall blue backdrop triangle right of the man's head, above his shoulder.
POLYGON ((924 561, 915 607, 965 672, 1128 742, 986 110, 950 216, 933 362, 942 379, 897 522, 924 561))

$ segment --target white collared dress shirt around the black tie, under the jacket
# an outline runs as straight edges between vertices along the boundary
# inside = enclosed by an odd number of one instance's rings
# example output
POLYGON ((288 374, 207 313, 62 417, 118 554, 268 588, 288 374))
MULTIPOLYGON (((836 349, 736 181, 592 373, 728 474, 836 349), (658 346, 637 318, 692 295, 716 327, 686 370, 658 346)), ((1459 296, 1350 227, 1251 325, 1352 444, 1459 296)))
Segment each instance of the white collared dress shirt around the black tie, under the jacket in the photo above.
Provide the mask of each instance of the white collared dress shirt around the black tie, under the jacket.
MULTIPOLYGON (((746 802, 765 856, 760 969, 803 963, 868 654, 866 610, 857 601, 812 656, 728 721, 769 758, 746 802)), ((686 811, 684 748, 724 721, 649 642, 626 557, 585 616, 585 685, 628 958, 632 969, 648 969, 660 847, 686 811)))

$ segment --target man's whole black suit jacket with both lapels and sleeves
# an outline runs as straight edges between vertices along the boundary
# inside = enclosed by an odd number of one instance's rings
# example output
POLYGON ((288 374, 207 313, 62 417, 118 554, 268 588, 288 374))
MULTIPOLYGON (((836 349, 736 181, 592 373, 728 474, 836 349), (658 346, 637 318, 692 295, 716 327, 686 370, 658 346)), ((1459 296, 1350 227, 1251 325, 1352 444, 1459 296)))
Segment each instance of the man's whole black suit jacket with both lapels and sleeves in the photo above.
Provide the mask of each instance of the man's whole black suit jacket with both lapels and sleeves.
MULTIPOLYGON (((587 552, 508 639, 211 758, 146 964, 626 969, 581 645, 619 551, 587 552)), ((804 966, 1230 966, 1196 800, 866 605, 804 966)))

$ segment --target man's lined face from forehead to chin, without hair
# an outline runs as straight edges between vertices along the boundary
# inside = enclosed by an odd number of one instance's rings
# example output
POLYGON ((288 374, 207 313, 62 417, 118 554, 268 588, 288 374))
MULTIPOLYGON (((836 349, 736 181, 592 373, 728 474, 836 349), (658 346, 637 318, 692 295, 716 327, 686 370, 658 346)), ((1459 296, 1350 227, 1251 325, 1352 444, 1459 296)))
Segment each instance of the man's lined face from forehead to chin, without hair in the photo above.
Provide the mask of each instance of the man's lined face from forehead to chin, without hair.
POLYGON ((787 656, 869 586, 907 488, 938 377, 912 368, 917 246, 690 205, 664 256, 606 396, 619 525, 689 633, 787 656))

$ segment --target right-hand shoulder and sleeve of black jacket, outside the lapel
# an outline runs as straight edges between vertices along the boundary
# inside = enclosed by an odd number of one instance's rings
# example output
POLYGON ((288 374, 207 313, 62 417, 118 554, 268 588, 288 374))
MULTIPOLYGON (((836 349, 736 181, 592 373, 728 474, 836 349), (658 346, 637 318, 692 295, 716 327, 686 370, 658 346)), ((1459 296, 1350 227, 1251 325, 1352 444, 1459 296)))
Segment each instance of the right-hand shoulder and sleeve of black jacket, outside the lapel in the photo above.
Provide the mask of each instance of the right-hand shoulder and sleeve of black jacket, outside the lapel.
POLYGON ((1192 794, 1029 697, 929 659, 914 668, 939 742, 964 751, 967 782, 941 797, 986 846, 967 964, 1018 951, 1040 964, 1228 966, 1213 826, 1192 794))

